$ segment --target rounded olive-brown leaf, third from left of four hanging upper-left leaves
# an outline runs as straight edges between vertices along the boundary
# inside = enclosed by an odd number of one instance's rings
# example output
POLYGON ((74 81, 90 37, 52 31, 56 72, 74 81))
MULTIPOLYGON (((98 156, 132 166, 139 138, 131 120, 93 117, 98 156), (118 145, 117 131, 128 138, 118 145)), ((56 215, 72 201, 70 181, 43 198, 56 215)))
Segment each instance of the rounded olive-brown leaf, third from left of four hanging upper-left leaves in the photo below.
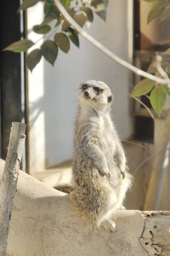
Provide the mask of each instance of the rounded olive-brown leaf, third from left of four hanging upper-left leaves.
POLYGON ((60 47, 63 52, 68 52, 70 49, 70 42, 68 37, 63 33, 56 33, 54 36, 55 43, 60 47))

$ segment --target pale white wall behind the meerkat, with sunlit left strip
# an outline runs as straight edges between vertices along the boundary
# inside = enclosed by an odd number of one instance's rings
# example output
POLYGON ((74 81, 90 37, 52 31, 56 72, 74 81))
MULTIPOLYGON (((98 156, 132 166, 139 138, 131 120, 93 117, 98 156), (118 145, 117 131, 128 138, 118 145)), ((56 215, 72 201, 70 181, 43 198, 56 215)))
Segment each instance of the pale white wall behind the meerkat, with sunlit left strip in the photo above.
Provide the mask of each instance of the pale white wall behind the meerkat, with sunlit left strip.
MULTIPOLYGON (((94 14, 92 26, 86 29, 85 25, 85 29, 112 52, 130 62, 131 17, 131 0, 110 1, 106 22, 104 23, 94 14)), ((31 12, 28 15, 28 20, 30 19, 32 20, 31 12)), ((80 83, 88 79, 100 80, 110 86, 115 97, 112 114, 117 130, 124 139, 132 133, 127 98, 129 91, 127 83, 131 82, 131 73, 81 36, 79 40, 80 49, 71 43, 68 54, 59 50, 54 67, 47 61, 41 60, 32 75, 29 75, 29 100, 36 103, 34 105, 39 113, 34 123, 30 119, 31 172, 35 169, 41 171, 43 166, 45 167, 45 162, 46 167, 51 167, 72 157, 73 122, 77 108, 76 90, 80 83), (35 86, 38 86, 37 89, 35 86), (43 95, 38 93, 39 90, 43 91, 43 95), (37 157, 39 160, 36 160, 37 157)), ((30 118, 33 112, 35 116, 35 109, 30 108, 30 118)))

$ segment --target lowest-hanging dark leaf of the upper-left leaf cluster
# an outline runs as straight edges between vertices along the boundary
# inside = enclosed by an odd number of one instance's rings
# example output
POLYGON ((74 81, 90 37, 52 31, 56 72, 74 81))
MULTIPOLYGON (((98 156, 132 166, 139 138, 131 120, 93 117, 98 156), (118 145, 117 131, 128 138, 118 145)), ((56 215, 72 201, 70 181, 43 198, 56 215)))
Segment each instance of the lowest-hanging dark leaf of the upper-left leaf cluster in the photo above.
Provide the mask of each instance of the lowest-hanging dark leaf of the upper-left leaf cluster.
POLYGON ((26 57, 26 64, 27 67, 31 70, 35 68, 35 66, 39 63, 41 60, 41 51, 39 49, 35 49, 32 52, 30 52, 26 57))

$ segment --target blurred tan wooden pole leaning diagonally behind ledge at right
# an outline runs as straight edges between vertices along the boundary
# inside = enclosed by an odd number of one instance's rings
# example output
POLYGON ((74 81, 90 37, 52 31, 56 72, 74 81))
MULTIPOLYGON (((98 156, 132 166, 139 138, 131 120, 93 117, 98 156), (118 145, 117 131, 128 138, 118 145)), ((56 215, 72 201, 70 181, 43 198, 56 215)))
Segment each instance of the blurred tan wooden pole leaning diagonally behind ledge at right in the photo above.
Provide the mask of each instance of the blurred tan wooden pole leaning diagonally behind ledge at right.
POLYGON ((169 134, 170 111, 168 112, 168 115, 166 117, 159 146, 156 152, 161 153, 158 154, 154 159, 148 190, 145 198, 144 211, 159 209, 159 203, 162 194, 166 168, 169 161, 169 152, 168 150, 166 150, 166 148, 168 148, 169 145, 169 134))

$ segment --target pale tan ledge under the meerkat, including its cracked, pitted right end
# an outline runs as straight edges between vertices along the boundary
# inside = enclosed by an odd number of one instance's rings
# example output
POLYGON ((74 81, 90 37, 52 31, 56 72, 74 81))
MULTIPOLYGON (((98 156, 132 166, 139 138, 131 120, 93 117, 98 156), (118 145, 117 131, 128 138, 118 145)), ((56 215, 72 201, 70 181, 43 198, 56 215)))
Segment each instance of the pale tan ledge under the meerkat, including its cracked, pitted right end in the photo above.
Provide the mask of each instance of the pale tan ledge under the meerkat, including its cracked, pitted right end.
MULTIPOLYGON (((0 159, 0 181, 4 161, 0 159)), ((115 211, 117 232, 89 231, 69 196, 19 171, 8 256, 170 255, 170 212, 115 211)))

